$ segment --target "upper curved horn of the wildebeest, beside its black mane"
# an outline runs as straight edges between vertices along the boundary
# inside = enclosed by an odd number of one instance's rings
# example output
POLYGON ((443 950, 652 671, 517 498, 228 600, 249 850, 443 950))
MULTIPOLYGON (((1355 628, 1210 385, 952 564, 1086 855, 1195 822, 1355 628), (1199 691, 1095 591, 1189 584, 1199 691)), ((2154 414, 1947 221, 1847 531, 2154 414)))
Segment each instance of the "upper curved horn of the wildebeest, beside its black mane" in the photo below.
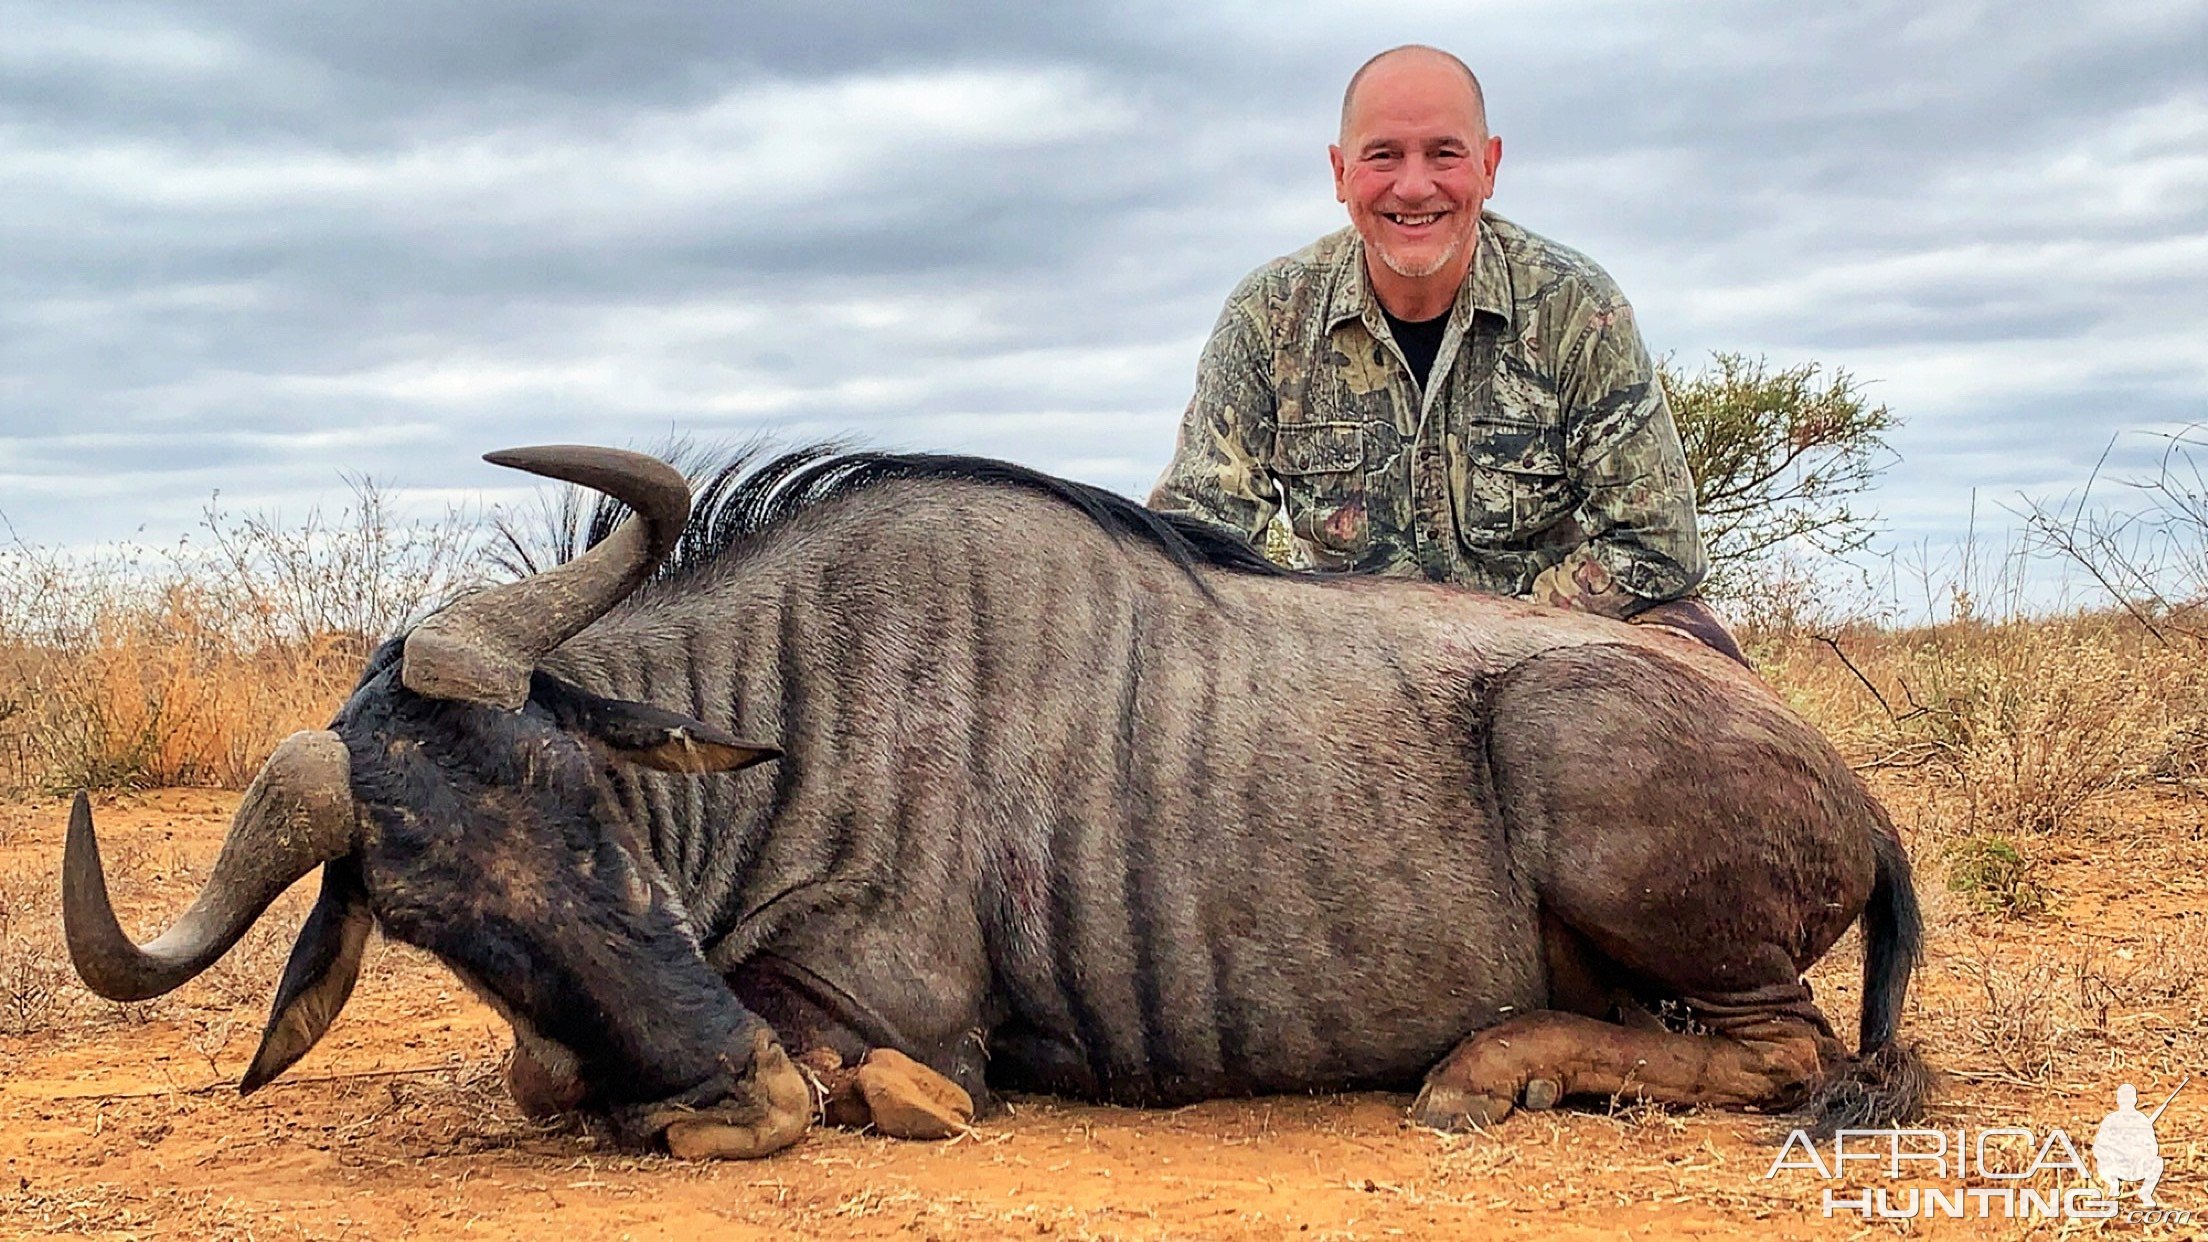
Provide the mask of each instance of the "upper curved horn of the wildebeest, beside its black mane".
POLYGON ((636 511, 565 566, 470 594, 406 636, 400 672, 406 690, 517 709, 530 696, 537 659, 620 603, 667 559, 682 539, 691 497, 682 471, 623 449, 545 444, 503 449, 484 460, 583 484, 636 511))

